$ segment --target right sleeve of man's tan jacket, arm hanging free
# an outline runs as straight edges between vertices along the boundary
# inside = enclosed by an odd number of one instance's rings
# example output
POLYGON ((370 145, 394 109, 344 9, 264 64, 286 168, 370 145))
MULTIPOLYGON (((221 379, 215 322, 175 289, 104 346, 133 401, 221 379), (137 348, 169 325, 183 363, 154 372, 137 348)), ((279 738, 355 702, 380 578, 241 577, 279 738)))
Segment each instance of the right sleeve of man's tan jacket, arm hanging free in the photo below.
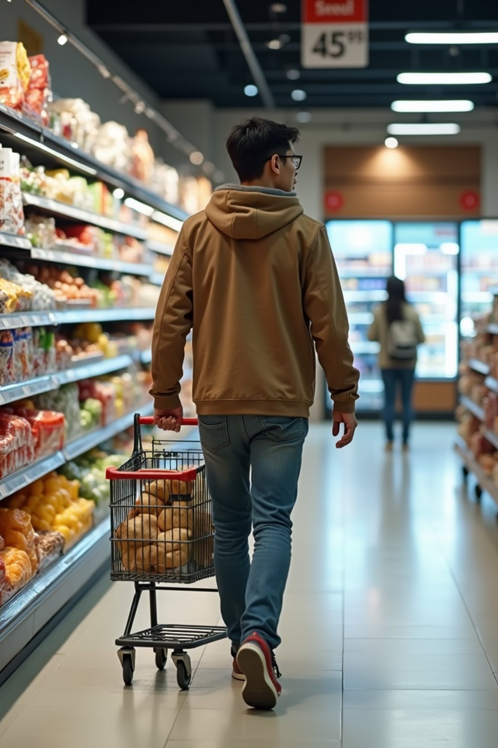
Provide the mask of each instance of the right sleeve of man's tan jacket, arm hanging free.
POLYGON ((305 266, 303 307, 334 409, 354 413, 360 373, 353 367, 346 304, 325 227, 317 232, 305 266))

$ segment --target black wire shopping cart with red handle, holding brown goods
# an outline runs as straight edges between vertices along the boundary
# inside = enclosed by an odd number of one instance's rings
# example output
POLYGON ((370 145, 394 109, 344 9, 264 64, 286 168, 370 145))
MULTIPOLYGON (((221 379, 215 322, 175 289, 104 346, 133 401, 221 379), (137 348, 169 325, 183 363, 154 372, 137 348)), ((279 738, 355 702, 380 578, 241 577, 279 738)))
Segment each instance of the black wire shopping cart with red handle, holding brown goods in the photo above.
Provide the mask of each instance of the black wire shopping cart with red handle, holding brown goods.
MULTIPOLYGON (((181 423, 195 426, 197 420, 181 423)), ((187 689, 192 666, 185 650, 224 639, 226 628, 158 624, 156 590, 178 590, 178 584, 214 576, 211 496, 199 442, 153 440, 144 447, 140 425, 151 424, 152 418, 135 415, 133 454, 106 473, 111 481, 111 579, 135 586, 125 633, 116 645, 125 685, 133 681, 135 647, 151 647, 160 670, 172 649, 178 686, 187 689), (144 591, 149 592, 151 625, 132 633, 144 591)))

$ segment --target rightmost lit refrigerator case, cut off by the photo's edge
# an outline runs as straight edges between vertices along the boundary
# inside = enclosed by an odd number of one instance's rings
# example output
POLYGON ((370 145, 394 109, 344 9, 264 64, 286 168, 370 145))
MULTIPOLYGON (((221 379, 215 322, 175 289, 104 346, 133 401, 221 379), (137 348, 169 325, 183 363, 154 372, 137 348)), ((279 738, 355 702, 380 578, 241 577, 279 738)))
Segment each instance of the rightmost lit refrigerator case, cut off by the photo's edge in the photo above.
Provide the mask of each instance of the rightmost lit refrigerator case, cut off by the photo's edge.
POLYGON ((498 286, 498 220, 462 222, 460 263, 460 333, 473 337, 474 319, 489 310, 498 286))

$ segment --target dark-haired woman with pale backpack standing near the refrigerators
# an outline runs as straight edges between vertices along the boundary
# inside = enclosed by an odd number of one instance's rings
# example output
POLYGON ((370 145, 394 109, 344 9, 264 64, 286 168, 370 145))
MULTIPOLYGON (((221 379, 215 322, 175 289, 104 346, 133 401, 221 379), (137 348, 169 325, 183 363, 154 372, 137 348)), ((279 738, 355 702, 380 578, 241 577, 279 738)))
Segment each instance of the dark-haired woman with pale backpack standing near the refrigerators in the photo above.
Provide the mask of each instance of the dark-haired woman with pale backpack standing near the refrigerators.
POLYGON ((386 450, 390 452, 393 449, 396 383, 401 387, 403 450, 408 450, 417 346, 426 337, 417 312, 406 301, 405 283, 399 278, 389 278, 387 281, 387 301, 376 310, 368 339, 381 344, 379 368, 384 381, 386 450))

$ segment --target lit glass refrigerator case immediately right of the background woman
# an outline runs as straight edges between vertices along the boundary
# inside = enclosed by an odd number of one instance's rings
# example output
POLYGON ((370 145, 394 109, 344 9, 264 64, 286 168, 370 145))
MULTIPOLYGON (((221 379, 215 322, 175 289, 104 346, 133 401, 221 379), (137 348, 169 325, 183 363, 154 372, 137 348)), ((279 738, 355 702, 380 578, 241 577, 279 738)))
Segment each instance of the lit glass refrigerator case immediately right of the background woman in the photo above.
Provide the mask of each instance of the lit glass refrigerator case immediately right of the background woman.
POLYGON ((452 379, 458 366, 458 224, 394 224, 394 275, 405 281, 426 334, 417 378, 452 379))

